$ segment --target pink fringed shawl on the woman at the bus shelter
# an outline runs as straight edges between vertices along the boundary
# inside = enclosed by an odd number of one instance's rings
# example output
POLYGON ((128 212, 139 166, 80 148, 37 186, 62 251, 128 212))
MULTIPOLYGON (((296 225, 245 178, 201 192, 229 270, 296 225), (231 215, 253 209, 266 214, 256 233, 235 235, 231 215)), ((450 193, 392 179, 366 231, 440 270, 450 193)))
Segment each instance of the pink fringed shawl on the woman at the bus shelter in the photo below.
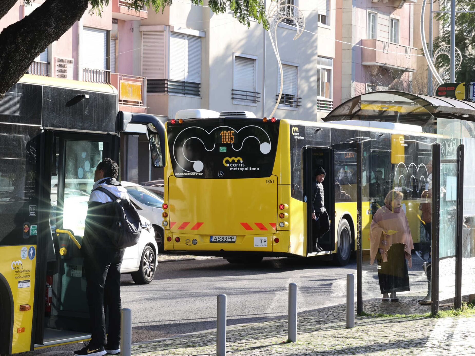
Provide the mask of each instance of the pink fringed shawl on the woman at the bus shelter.
POLYGON ((373 264, 378 250, 380 250, 383 262, 388 262, 388 251, 392 244, 404 244, 406 259, 409 267, 412 267, 411 250, 414 248, 414 244, 406 214, 402 208, 385 205, 378 209, 371 221, 371 264, 373 264))

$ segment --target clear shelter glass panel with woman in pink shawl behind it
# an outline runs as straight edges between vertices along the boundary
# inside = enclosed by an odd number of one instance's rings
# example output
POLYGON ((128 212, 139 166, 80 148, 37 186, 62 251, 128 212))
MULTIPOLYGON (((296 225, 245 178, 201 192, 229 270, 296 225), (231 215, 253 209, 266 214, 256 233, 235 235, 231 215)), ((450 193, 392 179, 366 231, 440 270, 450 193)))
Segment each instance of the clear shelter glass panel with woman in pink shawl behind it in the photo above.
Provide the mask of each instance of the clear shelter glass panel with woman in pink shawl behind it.
POLYGON ((361 95, 363 310, 425 313, 430 300, 434 116, 402 92, 361 95), (428 271, 428 272, 427 272, 428 271))

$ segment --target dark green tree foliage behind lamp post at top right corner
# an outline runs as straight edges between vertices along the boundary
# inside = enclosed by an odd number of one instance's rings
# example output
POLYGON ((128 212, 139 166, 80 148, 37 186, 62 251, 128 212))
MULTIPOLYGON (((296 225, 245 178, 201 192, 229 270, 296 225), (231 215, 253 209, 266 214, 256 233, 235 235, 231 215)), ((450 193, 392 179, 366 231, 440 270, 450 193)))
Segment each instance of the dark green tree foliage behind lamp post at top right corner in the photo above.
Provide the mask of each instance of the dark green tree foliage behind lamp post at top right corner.
MULTIPOLYGON (((450 0, 441 0, 440 9, 450 11, 450 0)), ((475 11, 475 0, 457 0, 457 11, 475 11)), ((443 45, 450 45, 450 12, 437 14, 443 28, 442 34, 434 40, 434 53, 443 45)), ((455 46, 462 53, 462 64, 455 73, 455 81, 475 81, 475 12, 456 13, 455 46)), ((437 68, 448 68, 448 56, 439 56, 435 63, 437 68)))

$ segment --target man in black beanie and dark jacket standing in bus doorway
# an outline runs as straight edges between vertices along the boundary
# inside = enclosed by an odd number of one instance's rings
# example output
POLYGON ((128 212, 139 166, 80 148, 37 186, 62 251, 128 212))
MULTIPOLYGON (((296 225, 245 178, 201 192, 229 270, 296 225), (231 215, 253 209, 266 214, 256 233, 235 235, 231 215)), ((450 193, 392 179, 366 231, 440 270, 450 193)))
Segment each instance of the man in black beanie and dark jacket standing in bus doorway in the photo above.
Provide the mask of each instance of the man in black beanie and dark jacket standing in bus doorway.
POLYGON ((315 170, 315 180, 312 184, 313 252, 323 251, 322 247, 318 244, 318 240, 330 230, 330 218, 325 209, 322 184, 325 174, 325 170, 322 167, 318 167, 315 170))

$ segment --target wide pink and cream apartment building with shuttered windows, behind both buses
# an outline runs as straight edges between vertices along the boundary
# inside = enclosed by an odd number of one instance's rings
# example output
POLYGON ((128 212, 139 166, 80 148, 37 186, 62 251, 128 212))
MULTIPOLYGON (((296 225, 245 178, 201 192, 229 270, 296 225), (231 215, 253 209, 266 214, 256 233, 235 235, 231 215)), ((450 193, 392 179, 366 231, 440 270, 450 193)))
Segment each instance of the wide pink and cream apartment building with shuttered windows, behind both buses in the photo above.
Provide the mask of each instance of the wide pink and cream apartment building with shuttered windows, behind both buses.
MULTIPOLYGON (((19 0, 0 20, 0 29, 43 2, 24 6, 19 0)), ((266 8, 272 3, 265 0, 266 8)), ((101 16, 88 9, 28 72, 112 84, 119 110, 148 112, 163 121, 190 108, 270 115, 280 71, 267 31, 254 20, 247 28, 231 10, 216 15, 207 4, 175 0, 163 13, 155 13, 128 9, 127 0, 111 0, 101 16)), ((318 120, 333 108, 335 0, 285 0, 281 5, 282 14, 303 14, 306 26, 296 40, 293 20, 277 27, 284 89, 274 116, 318 120)), ((121 139, 122 178, 159 178, 160 170, 150 166, 144 127, 129 125, 127 131, 121 139)))

